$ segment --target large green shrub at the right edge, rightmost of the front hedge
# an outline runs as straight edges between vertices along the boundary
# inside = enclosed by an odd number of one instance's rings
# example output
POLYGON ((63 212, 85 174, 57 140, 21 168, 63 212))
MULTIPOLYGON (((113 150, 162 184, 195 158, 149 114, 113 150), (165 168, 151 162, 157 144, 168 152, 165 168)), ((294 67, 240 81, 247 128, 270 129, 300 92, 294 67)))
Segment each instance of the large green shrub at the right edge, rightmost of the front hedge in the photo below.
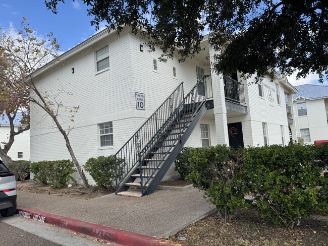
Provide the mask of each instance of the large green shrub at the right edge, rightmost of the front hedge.
POLYGON ((317 158, 318 151, 311 145, 271 145, 246 151, 242 170, 262 217, 293 227, 315 210, 328 212, 328 179, 320 175, 317 158))

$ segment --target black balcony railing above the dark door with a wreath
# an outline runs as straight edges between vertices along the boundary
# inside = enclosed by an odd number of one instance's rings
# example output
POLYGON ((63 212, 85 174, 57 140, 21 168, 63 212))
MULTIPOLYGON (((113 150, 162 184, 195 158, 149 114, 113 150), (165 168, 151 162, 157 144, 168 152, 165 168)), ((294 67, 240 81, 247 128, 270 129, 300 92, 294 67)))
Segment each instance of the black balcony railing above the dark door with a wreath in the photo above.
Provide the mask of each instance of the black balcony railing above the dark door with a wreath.
POLYGON ((225 75, 223 76, 223 81, 225 83, 226 100, 239 104, 246 104, 244 95, 244 85, 225 75))

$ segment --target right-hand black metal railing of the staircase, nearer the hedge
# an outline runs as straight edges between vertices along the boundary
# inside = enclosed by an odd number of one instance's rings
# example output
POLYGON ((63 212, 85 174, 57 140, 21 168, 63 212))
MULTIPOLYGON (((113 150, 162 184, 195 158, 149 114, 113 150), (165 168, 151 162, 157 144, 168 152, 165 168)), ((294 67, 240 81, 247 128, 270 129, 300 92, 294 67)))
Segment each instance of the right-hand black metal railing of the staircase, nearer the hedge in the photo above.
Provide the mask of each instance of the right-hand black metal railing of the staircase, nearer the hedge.
MULTIPOLYGON (((206 78, 208 76, 204 76, 206 78)), ((159 130, 152 136, 150 141, 139 153, 139 171, 140 171, 140 184, 141 192, 147 189, 147 185, 155 177, 155 172, 161 167, 160 165, 166 160, 170 151, 174 148, 174 143, 179 141, 188 127, 189 123, 197 114, 198 109, 206 102, 206 93, 203 91, 205 88, 198 81, 191 91, 183 99, 182 103, 175 108, 170 117, 164 122, 159 130), (174 132, 175 131, 175 132, 174 132), (173 133, 174 132, 174 133, 173 133), (169 145, 166 145, 169 143, 169 145), (168 146, 168 147, 166 147, 168 146), (149 156, 149 150, 159 150, 161 158, 158 159, 145 159, 149 156), (163 152, 160 152, 161 150, 163 152), (153 168, 145 168, 145 162, 150 163, 153 168)), ((158 154, 157 154, 158 155, 158 154)))

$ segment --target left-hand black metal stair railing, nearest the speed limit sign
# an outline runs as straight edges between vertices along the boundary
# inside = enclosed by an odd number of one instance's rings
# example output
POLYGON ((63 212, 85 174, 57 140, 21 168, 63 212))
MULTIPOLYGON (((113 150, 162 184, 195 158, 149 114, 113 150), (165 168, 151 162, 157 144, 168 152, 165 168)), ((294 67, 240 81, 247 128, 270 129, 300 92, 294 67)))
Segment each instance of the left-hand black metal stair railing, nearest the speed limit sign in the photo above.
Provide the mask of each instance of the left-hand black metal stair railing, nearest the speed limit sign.
POLYGON ((165 124, 172 112, 182 103, 183 98, 182 82, 115 154, 116 192, 134 170, 136 164, 139 163, 139 153, 143 146, 146 146, 156 135, 158 129, 165 124))

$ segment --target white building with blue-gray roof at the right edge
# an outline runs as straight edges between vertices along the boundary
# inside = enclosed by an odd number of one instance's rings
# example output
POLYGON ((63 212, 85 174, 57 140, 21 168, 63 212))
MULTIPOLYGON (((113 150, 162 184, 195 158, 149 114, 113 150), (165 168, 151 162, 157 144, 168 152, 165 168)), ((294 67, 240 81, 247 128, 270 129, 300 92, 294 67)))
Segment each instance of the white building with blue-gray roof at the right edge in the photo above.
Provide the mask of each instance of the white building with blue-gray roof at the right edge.
MULTIPOLYGON (((305 144, 328 140, 328 86, 300 85, 293 95, 296 134, 305 144)), ((291 105, 291 100, 288 105, 291 105)))

